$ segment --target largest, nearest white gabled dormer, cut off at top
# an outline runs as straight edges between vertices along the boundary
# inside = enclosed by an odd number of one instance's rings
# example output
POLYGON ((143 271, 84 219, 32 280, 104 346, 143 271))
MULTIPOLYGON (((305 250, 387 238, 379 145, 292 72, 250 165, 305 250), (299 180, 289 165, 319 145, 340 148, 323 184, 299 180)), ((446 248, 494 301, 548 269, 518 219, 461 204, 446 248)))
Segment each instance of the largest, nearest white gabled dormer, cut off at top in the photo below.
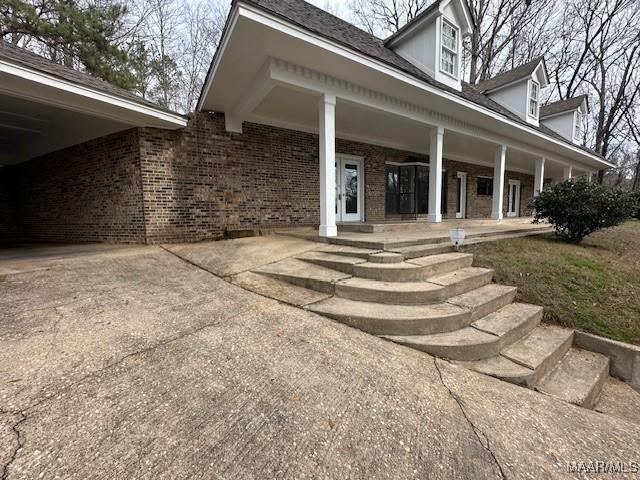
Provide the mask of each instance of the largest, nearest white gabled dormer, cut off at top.
POLYGON ((438 0, 385 45, 437 81, 462 90, 462 37, 472 30, 466 0, 438 0))

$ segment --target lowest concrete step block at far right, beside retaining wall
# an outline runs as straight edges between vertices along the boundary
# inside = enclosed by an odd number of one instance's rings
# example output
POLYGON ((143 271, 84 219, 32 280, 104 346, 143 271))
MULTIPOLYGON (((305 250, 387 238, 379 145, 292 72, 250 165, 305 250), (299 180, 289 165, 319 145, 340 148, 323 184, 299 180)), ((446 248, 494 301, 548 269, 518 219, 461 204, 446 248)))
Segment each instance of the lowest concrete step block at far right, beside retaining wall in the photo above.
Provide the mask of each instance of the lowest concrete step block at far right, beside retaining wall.
POLYGON ((579 407, 593 409, 608 377, 608 357, 571 348, 536 385, 536 390, 579 407))

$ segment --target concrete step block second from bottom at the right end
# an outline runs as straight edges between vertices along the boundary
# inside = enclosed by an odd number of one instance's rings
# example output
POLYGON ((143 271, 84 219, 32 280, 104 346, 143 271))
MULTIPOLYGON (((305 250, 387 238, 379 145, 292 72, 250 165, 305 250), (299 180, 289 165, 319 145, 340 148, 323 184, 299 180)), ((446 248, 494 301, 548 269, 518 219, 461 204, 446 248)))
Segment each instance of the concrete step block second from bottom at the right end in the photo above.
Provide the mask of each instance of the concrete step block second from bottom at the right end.
POLYGON ((534 385, 549 373, 573 344, 573 330, 540 325, 523 339, 505 348, 500 354, 534 370, 534 385))

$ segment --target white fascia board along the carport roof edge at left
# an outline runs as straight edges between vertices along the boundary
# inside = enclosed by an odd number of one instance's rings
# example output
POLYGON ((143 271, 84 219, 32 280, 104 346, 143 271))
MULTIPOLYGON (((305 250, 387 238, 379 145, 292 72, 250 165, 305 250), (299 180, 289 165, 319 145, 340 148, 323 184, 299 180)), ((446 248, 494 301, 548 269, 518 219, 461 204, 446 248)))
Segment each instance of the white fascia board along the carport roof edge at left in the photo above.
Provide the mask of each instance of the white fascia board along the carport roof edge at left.
MULTIPOLYGON (((80 97, 103 102, 103 103, 113 105, 125 110, 130 110, 139 114, 148 115, 148 116, 157 118, 163 122, 171 123, 175 126, 175 128, 182 128, 187 125, 187 119, 182 115, 170 113, 165 110, 155 109, 148 105, 143 105, 141 103, 124 99, 122 97, 117 97, 115 95, 101 92, 99 90, 95 90, 93 88, 89 88, 83 85, 78 85, 76 83, 55 77, 53 75, 49 75, 37 70, 23 67, 21 65, 9 63, 4 60, 0 60, 0 72, 6 73, 14 77, 18 77, 23 80, 33 82, 36 84, 46 85, 47 87, 52 87, 58 90, 62 90, 74 95, 78 95, 80 97)), ((1 89, 2 87, 0 87, 0 90, 1 89)), ((9 90, 5 90, 5 91, 9 91, 9 90)), ((25 96, 25 95, 21 95, 21 96, 25 96)), ((38 95, 30 95, 30 98, 33 98, 39 101, 44 100, 42 96, 38 96, 38 95)), ((51 99, 51 101, 48 103, 51 103, 53 105, 58 105, 60 107, 67 107, 67 108, 71 107, 67 103, 56 101, 55 99, 51 99)), ((82 108, 78 106, 76 106, 75 109, 84 111, 82 108)), ((87 109, 86 112, 91 114, 100 114, 100 112, 96 111, 95 109, 87 109)), ((108 116, 113 120, 126 123, 125 116, 122 116, 122 117, 118 116, 118 118, 114 118, 113 115, 105 114, 104 116, 108 116)))

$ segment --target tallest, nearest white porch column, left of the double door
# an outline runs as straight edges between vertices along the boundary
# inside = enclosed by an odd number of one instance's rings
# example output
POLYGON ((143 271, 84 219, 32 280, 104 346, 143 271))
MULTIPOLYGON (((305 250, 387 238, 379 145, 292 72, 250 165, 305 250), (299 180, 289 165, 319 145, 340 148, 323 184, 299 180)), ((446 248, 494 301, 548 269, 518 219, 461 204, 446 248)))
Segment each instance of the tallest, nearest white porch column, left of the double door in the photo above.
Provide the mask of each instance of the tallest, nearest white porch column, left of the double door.
POLYGON ((318 102, 320 136, 321 237, 338 235, 336 227, 336 97, 324 94, 318 102))

